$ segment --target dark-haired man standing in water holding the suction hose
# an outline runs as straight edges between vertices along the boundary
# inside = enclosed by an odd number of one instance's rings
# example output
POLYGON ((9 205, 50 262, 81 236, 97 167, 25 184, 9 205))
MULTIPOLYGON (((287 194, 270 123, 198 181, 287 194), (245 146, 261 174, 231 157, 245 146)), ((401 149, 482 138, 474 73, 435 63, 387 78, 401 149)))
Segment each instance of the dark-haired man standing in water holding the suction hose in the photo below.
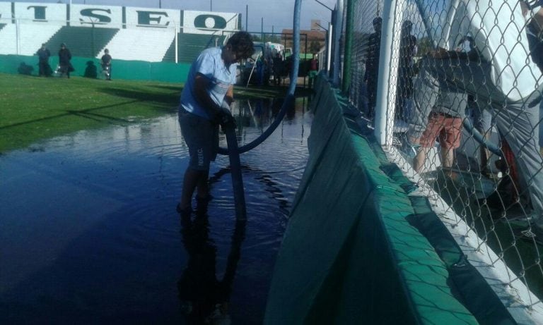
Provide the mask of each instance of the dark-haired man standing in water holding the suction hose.
POLYGON ((236 32, 223 47, 205 49, 192 63, 181 93, 179 124, 189 147, 190 161, 183 178, 177 212, 192 211, 192 195, 197 203, 209 201, 209 164, 218 146, 218 121, 232 118, 233 85, 236 66, 254 52, 251 35, 236 32))

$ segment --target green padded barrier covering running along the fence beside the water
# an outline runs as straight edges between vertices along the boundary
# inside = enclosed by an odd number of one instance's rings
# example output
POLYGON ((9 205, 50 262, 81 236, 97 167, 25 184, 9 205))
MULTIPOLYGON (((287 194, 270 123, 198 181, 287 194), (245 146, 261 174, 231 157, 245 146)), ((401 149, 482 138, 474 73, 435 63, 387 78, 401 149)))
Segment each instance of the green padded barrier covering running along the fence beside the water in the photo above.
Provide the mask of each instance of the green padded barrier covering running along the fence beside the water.
POLYGON ((411 200, 383 171, 383 150, 319 79, 310 157, 264 323, 477 324, 450 288, 448 265, 409 223, 411 200))

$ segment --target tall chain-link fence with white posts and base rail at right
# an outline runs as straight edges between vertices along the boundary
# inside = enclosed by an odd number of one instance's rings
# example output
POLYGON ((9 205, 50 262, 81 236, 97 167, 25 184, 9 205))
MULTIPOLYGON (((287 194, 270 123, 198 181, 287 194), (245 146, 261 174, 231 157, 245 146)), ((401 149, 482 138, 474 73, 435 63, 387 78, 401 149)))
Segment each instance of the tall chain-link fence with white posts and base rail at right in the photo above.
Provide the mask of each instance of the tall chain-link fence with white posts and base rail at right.
POLYGON ((508 307, 539 312, 542 3, 359 0, 346 31, 351 103, 414 195, 428 196, 459 243, 472 238, 469 259, 505 265, 503 286, 522 292, 508 307))

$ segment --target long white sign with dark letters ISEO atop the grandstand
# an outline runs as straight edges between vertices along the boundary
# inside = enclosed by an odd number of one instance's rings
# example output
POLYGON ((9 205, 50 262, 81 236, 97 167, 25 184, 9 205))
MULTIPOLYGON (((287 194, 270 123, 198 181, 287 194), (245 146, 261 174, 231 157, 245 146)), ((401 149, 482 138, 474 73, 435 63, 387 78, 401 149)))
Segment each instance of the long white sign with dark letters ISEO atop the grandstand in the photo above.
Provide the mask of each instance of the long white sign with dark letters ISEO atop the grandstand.
POLYGON ((16 21, 131 29, 180 27, 181 32, 210 34, 216 30, 237 30, 240 14, 160 8, 1 2, 0 23, 16 23, 16 21))

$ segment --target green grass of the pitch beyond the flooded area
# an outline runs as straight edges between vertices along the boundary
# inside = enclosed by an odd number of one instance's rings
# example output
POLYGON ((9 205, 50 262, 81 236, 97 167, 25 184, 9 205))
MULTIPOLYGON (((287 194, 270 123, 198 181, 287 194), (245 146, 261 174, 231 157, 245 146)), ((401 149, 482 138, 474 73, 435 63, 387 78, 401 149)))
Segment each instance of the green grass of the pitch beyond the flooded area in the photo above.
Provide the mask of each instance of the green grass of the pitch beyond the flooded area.
MULTIPOLYGON (((177 111, 182 84, 0 74, 0 154, 78 130, 127 125, 177 111)), ((286 88, 236 88, 283 97, 286 88)))

